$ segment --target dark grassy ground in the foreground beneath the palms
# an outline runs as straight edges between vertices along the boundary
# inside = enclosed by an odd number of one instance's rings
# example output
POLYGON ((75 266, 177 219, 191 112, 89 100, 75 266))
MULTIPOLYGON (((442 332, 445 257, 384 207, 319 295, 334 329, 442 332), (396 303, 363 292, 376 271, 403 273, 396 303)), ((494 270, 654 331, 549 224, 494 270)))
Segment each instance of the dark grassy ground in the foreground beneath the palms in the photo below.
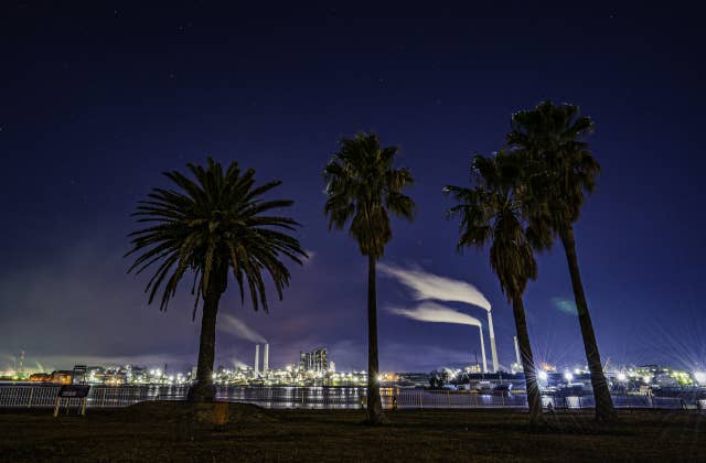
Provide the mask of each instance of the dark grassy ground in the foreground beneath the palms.
POLYGON ((361 424, 361 411, 265 410, 231 405, 222 431, 175 402, 88 410, 0 411, 1 461, 705 461, 706 416, 620 414, 602 429, 590 414, 550 416, 532 429, 506 410, 405 410, 361 424), (192 440, 193 437, 193 440, 192 440))

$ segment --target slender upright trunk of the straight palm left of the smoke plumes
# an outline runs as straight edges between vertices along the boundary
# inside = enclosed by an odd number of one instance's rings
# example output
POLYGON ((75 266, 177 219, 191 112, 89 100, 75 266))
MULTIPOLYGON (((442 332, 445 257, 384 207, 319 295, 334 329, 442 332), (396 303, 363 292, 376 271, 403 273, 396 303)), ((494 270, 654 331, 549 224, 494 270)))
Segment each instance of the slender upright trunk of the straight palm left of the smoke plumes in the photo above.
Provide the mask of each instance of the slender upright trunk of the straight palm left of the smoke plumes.
POLYGON ((379 397, 379 363, 377 358, 377 298, 375 292, 375 257, 367 257, 367 422, 385 420, 379 397))

